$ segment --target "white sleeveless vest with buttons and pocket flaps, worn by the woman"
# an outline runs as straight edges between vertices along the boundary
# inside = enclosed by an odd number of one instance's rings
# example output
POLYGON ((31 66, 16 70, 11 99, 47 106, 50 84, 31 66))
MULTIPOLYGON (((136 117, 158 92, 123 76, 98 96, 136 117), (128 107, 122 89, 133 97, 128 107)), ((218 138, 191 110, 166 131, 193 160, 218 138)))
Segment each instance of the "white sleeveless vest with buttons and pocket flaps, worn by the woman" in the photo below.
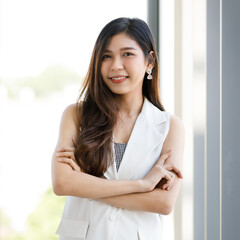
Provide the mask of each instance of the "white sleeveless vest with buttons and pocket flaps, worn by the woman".
MULTIPOLYGON (((169 125, 170 114, 145 98, 118 172, 113 161, 104 176, 119 180, 144 177, 159 159, 169 125)), ((161 240, 161 228, 159 214, 69 196, 57 234, 60 240, 161 240)))

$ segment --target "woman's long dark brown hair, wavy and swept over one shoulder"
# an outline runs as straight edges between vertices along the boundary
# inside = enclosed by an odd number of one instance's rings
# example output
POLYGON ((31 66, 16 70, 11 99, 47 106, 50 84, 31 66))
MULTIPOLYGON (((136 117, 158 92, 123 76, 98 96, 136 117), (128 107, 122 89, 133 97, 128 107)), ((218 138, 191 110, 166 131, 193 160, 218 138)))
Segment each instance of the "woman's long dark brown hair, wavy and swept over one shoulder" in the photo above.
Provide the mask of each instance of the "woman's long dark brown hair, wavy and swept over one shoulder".
POLYGON ((76 108, 79 134, 75 158, 83 172, 94 176, 102 176, 111 163, 112 134, 118 112, 116 95, 102 79, 101 62, 111 38, 122 32, 139 44, 149 62, 154 62, 153 79, 147 80, 147 74, 145 74, 142 91, 153 105, 164 110, 158 90, 158 57, 154 39, 147 24, 137 18, 118 18, 111 21, 97 38, 76 108), (153 55, 150 52, 153 52, 153 55))

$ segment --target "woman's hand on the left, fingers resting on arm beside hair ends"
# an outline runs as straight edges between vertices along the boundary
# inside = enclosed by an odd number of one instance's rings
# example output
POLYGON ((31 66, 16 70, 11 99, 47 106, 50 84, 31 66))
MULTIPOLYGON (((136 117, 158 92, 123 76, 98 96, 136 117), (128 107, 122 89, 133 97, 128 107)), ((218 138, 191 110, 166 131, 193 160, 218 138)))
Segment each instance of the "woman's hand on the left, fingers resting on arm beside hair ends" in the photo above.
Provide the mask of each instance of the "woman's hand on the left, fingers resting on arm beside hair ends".
POLYGON ((74 151, 74 147, 63 147, 57 150, 56 157, 59 162, 66 163, 74 171, 81 172, 81 169, 76 162, 74 151))

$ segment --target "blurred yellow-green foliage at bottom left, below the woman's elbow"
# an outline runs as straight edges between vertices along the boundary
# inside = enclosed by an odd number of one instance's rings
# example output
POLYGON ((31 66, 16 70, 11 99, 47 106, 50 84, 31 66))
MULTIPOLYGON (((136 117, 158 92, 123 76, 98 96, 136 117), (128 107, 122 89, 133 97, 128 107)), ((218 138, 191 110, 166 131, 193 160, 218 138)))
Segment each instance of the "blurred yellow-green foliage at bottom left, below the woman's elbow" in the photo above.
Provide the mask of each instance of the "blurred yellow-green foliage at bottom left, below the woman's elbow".
MULTIPOLYGON (((35 211, 28 216, 26 232, 19 234, 11 230, 11 226, 5 224, 9 233, 2 240, 57 240, 55 234, 60 222, 65 197, 54 195, 50 187, 43 193, 35 211), (10 231, 11 230, 11 231, 10 231)), ((6 218, 6 217, 5 217, 6 218)), ((2 228, 2 226, 1 226, 2 228)))

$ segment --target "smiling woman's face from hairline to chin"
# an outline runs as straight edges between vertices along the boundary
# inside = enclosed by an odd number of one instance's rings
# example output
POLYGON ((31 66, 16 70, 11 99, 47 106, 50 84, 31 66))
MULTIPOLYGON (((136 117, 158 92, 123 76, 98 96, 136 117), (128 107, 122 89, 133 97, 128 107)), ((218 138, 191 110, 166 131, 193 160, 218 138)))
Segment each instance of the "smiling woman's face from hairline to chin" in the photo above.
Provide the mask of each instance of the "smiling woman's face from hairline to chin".
POLYGON ((103 54, 101 75, 115 94, 142 94, 147 67, 138 43, 126 33, 119 33, 112 37, 103 54))

